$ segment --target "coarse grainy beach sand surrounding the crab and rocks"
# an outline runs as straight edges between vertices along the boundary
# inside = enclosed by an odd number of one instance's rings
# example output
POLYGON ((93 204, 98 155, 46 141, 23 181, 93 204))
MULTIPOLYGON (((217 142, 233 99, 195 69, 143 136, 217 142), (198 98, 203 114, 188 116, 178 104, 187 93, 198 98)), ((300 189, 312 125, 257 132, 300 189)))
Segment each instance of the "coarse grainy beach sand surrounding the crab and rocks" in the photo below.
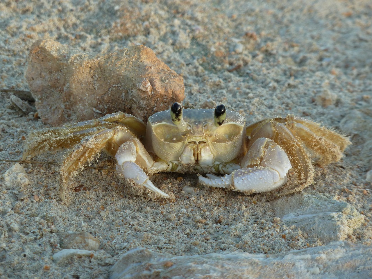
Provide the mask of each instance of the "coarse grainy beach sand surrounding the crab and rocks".
MULTIPOLYGON (((189 108, 224 103, 247 122, 293 113, 350 135, 353 145, 344 158, 316 167, 314 185, 304 193, 345 202, 363 215, 360 227, 339 240, 368 248, 371 16, 368 0, 2 1, 0 89, 10 92, 0 90, 0 159, 20 160, 28 133, 47 127, 8 100, 15 90, 29 91, 23 75, 33 42, 51 38, 100 54, 143 44, 183 76, 183 105, 189 108)), ((62 155, 32 160, 58 163, 62 155)), ((0 174, 15 164, 1 161, 0 174)), ((92 166, 113 169, 115 160, 102 155, 92 166)), ((108 278, 112 264, 139 246, 176 256, 270 256, 328 244, 278 220, 265 195, 202 187, 193 174, 152 177, 174 193, 170 202, 138 195, 115 172, 86 169, 74 179, 70 204, 63 205, 58 164, 20 163, 13 170, 15 176, 0 180, 2 278, 108 278), (54 261, 68 231, 97 238, 96 256, 54 261)))

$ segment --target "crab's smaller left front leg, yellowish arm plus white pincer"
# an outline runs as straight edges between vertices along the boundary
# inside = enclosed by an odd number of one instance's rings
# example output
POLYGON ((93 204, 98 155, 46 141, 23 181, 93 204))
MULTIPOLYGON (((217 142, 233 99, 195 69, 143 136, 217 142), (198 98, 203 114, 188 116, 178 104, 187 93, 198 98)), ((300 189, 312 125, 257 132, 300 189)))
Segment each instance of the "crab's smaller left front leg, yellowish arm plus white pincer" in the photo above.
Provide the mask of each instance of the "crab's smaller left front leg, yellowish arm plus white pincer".
POLYGON ((151 168, 152 172, 157 172, 166 170, 168 166, 155 162, 137 138, 124 142, 119 147, 115 158, 118 161, 116 171, 126 179, 130 179, 135 184, 144 186, 164 198, 170 197, 167 193, 155 187, 143 170, 151 168))

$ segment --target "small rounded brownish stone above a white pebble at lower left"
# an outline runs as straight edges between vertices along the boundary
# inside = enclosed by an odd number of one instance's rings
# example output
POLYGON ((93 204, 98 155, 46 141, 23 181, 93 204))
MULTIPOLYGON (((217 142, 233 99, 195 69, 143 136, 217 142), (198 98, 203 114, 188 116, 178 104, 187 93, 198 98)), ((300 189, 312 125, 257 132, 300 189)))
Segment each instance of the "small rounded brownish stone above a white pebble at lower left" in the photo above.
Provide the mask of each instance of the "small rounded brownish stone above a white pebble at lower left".
POLYGON ((93 237, 89 232, 71 232, 61 235, 63 249, 83 249, 97 251, 100 241, 93 237))

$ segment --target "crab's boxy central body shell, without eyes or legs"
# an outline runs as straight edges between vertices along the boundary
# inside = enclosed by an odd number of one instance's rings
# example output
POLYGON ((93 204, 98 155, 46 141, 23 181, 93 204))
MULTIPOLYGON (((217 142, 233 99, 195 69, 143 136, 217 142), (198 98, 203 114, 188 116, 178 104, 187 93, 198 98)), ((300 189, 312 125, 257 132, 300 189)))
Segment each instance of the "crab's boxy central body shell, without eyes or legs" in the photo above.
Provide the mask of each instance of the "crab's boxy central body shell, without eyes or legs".
POLYGON ((245 150, 246 119, 226 110, 222 125, 214 124, 214 109, 183 109, 184 130, 175 125, 170 110, 148 118, 146 150, 164 161, 205 164, 234 160, 245 150))

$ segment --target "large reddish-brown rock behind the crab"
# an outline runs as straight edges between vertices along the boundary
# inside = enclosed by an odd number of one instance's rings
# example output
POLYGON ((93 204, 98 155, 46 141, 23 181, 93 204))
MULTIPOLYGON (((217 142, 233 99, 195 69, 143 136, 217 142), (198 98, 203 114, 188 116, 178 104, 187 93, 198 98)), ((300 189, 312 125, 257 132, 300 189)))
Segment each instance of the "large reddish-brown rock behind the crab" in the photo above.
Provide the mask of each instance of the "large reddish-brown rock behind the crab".
POLYGON ((118 111, 147 122, 185 96, 183 78, 143 45, 87 54, 39 40, 27 61, 25 77, 36 109, 42 121, 54 126, 118 111))

